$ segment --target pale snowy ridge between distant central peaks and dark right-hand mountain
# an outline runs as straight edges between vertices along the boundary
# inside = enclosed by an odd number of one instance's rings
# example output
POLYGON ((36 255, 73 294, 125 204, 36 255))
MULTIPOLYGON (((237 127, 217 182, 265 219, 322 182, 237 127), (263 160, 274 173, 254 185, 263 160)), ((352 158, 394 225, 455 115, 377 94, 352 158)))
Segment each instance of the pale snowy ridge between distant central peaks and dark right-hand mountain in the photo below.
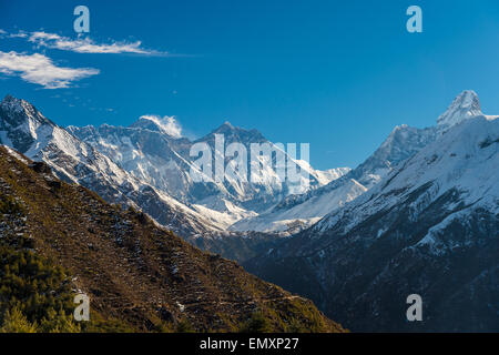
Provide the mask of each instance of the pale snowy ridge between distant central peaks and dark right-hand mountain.
POLYGON ((233 231, 299 232, 376 185, 400 162, 434 141, 436 128, 396 126, 383 144, 354 170, 339 168, 326 185, 285 197, 273 209, 231 226, 233 231))

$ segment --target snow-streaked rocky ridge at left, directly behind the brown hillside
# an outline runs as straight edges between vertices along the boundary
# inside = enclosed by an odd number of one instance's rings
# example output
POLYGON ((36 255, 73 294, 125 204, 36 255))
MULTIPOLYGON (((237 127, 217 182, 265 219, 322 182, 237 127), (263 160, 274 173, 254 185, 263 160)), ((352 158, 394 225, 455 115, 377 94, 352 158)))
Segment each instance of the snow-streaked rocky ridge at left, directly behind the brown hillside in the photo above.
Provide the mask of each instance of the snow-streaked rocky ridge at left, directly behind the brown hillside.
POLYGON ((7 95, 0 103, 0 143, 45 162, 60 179, 82 184, 109 202, 142 209, 180 235, 220 231, 166 192, 129 174, 24 100, 7 95))

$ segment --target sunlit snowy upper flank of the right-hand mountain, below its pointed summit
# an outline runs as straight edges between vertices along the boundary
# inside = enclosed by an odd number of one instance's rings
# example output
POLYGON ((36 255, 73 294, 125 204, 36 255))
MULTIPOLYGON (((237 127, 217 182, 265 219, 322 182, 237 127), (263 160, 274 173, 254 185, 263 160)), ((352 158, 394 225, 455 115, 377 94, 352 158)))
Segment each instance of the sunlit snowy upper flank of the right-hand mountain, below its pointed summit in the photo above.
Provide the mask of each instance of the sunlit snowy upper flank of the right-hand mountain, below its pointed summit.
MULTIPOLYGON (((343 221, 343 232, 346 233, 360 221, 381 210, 389 210, 427 185, 431 185, 431 189, 410 204, 415 214, 450 190, 459 192, 460 203, 473 209, 483 206, 497 213, 498 140, 497 118, 481 115, 464 121, 391 172, 385 183, 376 185, 344 210, 324 217, 314 230, 324 233, 343 221), (348 219, 346 224, 345 219, 348 219)), ((450 204, 448 207, 452 209, 455 205, 450 204)))

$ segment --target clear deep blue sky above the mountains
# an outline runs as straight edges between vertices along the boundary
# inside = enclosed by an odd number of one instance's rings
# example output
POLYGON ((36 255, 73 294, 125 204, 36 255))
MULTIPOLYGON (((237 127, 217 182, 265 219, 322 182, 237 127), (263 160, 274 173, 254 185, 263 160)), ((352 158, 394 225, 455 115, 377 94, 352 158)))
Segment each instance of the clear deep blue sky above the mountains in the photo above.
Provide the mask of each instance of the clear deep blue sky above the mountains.
POLYGON ((328 169, 354 168, 397 124, 432 125, 465 89, 499 114, 497 0, 0 0, 0 95, 60 125, 175 115, 201 136, 227 120, 309 142, 312 164, 328 169), (79 4, 91 50, 74 42, 79 4), (411 4, 422 33, 406 31, 411 4), (101 53, 112 43, 124 52, 101 53))

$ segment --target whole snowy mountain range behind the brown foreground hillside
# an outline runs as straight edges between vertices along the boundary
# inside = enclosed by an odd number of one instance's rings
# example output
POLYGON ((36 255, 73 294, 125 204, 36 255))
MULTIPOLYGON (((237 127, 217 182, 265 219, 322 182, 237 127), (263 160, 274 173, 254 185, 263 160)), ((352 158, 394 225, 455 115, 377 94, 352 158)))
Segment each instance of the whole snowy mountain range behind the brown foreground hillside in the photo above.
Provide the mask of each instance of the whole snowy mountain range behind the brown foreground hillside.
POLYGON ((191 148, 215 151, 217 134, 247 151, 252 143, 279 150, 228 122, 196 140, 154 116, 126 128, 61 128, 8 95, 0 143, 312 298, 354 331, 497 331, 498 122, 464 91, 436 125, 396 126, 355 169, 318 171, 286 154, 310 176, 301 189, 275 173, 272 159, 259 161, 256 181, 196 182, 191 148), (406 320, 414 293, 424 322, 406 320))

